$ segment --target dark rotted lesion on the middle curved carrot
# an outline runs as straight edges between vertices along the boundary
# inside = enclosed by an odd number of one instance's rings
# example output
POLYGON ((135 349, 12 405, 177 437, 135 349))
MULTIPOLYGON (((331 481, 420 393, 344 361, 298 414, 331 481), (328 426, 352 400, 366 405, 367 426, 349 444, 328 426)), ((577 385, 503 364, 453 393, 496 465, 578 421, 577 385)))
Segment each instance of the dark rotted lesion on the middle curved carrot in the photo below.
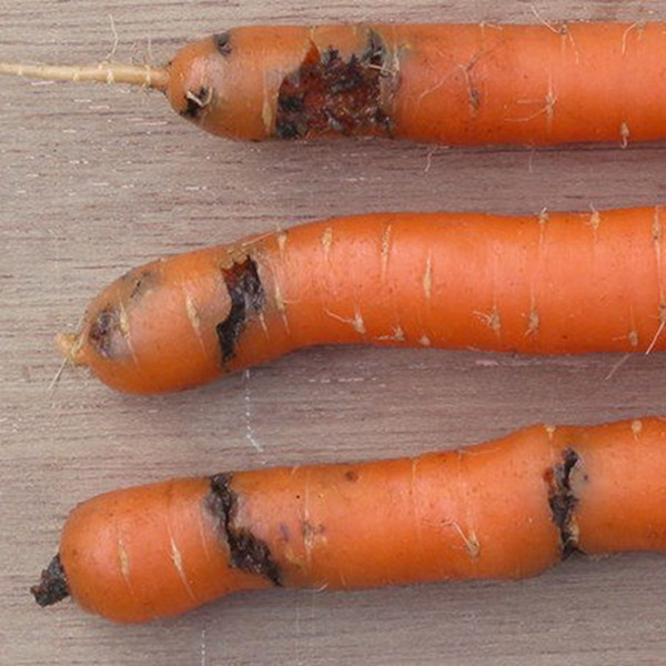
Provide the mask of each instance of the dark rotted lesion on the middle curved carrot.
POLYGON ((222 275, 229 291, 231 309, 226 319, 215 326, 215 332, 222 362, 226 363, 235 355, 235 347, 248 319, 263 307, 265 295, 256 262, 250 256, 234 263, 231 269, 222 269, 222 275))

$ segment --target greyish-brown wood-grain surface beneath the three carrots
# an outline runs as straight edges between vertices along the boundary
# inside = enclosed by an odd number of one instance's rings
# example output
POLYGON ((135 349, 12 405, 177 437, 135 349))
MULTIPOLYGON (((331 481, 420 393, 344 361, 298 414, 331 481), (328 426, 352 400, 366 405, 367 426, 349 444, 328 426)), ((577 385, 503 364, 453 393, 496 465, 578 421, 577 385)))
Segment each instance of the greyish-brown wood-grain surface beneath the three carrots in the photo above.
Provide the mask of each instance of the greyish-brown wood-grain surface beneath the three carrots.
MULTIPOLYGON (((167 60, 239 23, 666 20, 666 1, 0 1, 0 59, 167 60)), ((666 559, 572 558, 519 583, 232 596, 113 626, 28 594, 69 509, 121 485, 473 444, 535 422, 664 413, 666 355, 526 359, 311 350, 179 395, 112 393, 54 333, 148 259, 275 225, 380 210, 654 205, 664 145, 433 149, 233 144, 160 94, 0 80, 0 662, 6 664, 663 664, 666 559)))

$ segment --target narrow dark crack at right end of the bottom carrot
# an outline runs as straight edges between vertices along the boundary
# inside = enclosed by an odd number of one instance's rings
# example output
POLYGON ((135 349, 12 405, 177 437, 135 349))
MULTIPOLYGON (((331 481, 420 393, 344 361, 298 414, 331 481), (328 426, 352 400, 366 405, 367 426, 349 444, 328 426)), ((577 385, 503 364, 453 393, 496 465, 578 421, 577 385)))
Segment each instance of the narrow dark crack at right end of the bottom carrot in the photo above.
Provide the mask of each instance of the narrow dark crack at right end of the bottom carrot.
POLYGON ((563 559, 566 559, 572 553, 581 551, 578 528, 574 517, 578 498, 571 484, 572 471, 579 461, 581 456, 573 448, 566 448, 562 455, 562 463, 551 467, 545 474, 548 484, 548 505, 553 523, 559 531, 563 559))

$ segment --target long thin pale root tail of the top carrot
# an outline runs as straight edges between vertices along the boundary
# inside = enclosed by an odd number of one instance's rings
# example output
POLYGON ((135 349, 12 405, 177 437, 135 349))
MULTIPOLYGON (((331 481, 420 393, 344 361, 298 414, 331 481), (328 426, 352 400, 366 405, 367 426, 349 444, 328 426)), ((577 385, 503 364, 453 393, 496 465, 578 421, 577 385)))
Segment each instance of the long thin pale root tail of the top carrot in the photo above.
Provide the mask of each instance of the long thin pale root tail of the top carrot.
POLYGON ((111 64, 100 63, 88 67, 21 64, 0 62, 0 74, 43 79, 46 81, 73 81, 98 83, 130 83, 164 91, 169 81, 165 68, 148 64, 111 64))

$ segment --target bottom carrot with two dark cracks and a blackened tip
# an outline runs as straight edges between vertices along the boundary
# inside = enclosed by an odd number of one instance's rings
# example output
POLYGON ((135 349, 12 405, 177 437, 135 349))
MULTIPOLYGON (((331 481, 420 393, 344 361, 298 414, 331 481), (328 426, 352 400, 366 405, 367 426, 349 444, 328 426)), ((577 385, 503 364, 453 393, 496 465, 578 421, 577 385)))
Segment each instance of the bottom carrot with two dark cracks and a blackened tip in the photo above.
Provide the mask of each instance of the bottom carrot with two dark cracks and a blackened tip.
POLYGON ((32 588, 117 622, 265 587, 523 578, 666 549, 666 420, 533 426, 414 458, 181 478, 69 516, 32 588))

